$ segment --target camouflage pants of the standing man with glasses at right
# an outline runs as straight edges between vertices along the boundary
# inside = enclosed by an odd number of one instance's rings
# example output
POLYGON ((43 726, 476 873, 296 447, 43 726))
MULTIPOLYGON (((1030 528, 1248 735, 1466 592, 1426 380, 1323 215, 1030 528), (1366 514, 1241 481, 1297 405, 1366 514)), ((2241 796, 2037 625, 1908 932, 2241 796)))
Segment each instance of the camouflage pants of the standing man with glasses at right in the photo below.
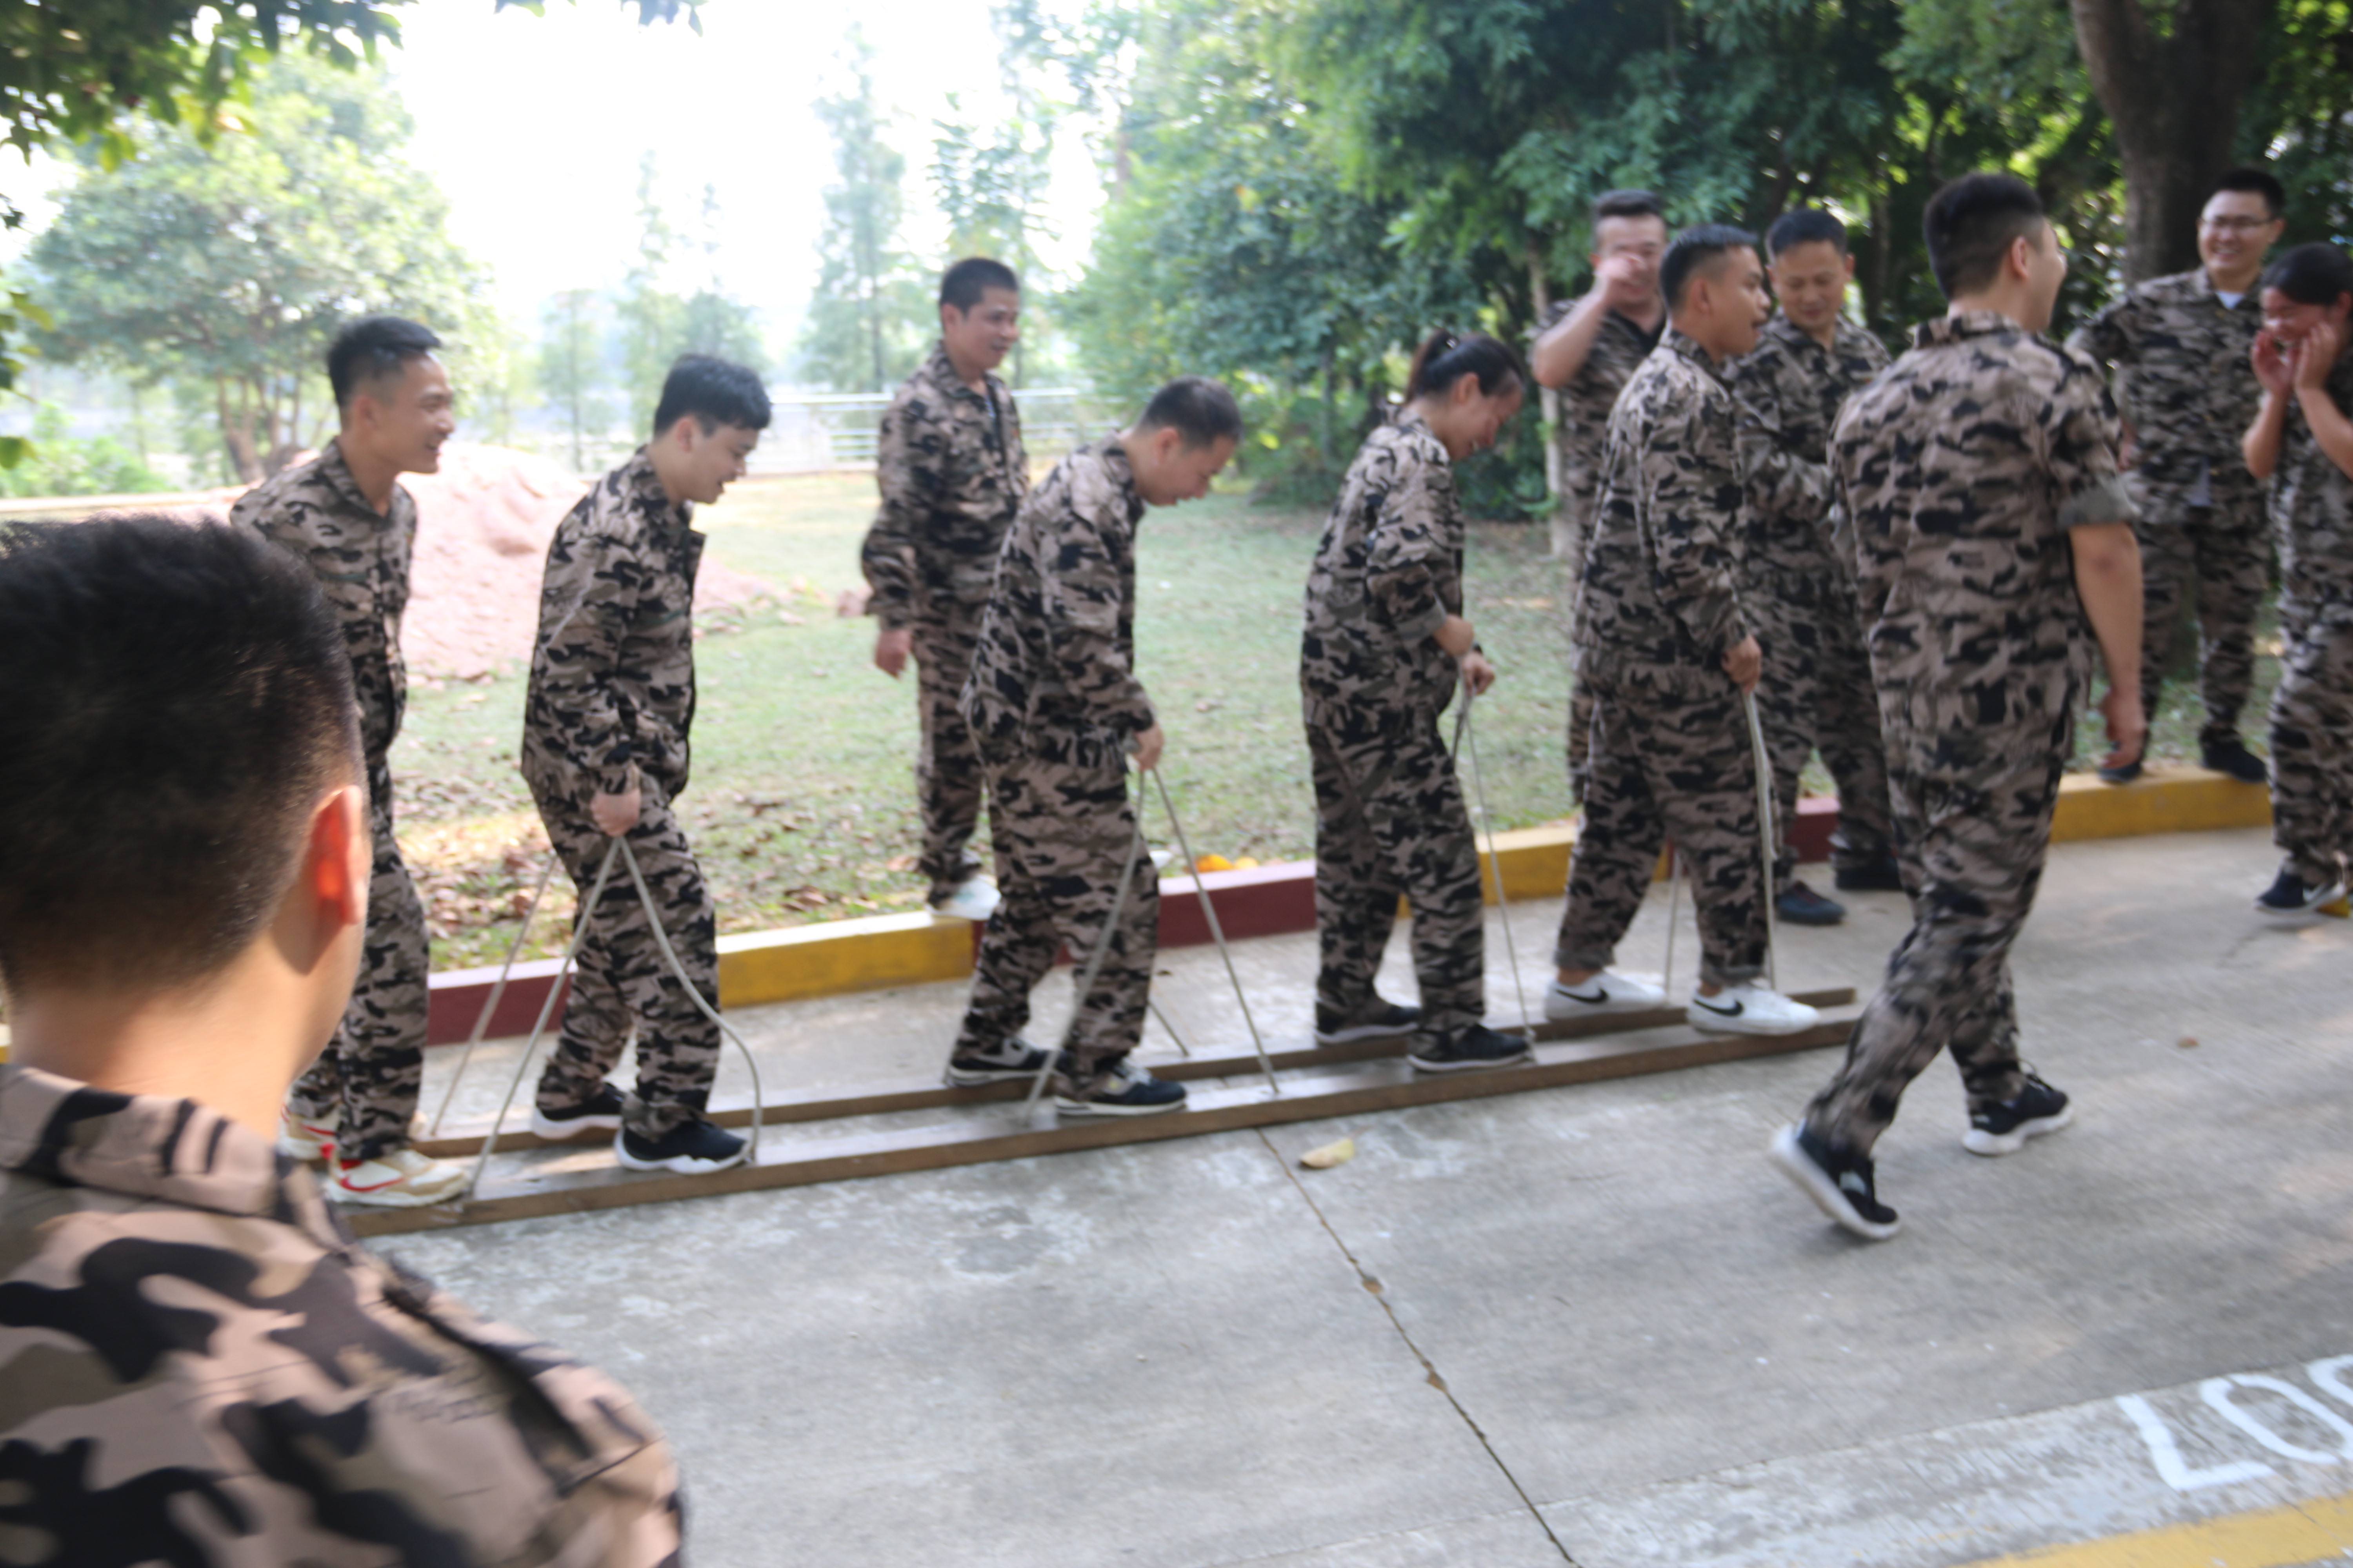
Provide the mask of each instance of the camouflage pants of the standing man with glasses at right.
POLYGON ((2141 541, 2141 705, 2158 712, 2181 599, 2198 602, 2198 686, 2205 698, 2200 745, 2238 738, 2238 715, 2254 689, 2254 618, 2271 585, 2261 498, 2224 505, 2151 508, 2132 524, 2141 541))

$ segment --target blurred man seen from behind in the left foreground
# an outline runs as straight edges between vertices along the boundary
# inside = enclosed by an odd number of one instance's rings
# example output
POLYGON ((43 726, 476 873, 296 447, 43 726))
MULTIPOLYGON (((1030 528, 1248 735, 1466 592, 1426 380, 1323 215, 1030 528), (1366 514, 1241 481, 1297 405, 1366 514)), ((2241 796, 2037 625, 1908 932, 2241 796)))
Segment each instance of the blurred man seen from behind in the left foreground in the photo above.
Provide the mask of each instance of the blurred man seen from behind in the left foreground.
POLYGON ((647 1413, 271 1147, 365 966, 336 611, 144 517, 14 541, 0 621, 0 1561, 675 1566, 647 1413))

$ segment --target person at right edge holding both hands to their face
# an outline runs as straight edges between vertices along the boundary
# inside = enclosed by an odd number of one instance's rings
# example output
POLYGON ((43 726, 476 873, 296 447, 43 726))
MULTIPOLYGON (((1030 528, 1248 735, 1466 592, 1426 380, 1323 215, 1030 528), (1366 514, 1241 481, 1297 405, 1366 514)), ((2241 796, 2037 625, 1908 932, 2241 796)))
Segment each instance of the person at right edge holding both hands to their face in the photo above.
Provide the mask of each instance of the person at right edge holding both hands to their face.
POLYGON ((2245 461, 2271 482, 2280 545, 2271 835, 2285 860, 2254 905, 2294 917, 2353 872, 2353 259, 2299 244, 2264 275, 2261 303, 2245 461))

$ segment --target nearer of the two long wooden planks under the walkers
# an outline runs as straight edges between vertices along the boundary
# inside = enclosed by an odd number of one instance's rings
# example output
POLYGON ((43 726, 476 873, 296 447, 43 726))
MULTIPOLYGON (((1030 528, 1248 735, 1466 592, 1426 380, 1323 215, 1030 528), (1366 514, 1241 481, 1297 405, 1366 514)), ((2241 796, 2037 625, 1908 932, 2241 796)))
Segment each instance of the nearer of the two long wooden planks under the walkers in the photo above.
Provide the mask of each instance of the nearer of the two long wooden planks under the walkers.
POLYGON ((1546 1044, 1527 1067, 1494 1072, 1414 1074, 1402 1060, 1358 1063, 1318 1074, 1299 1074, 1268 1095, 1264 1084, 1200 1088, 1188 1110, 1162 1117, 1106 1121, 1059 1121, 1040 1107, 1024 1126, 1002 1114, 976 1114, 941 1126, 859 1133, 793 1143, 769 1138, 758 1164, 713 1175, 640 1175, 600 1164, 567 1175, 508 1175, 487 1194, 435 1208, 351 1208, 346 1218, 362 1237, 393 1237, 456 1225, 492 1225, 555 1213, 591 1213, 635 1204, 666 1204, 722 1192, 805 1187, 866 1175, 941 1171, 1035 1154, 1068 1154, 1169 1138, 1200 1138, 1285 1121, 1365 1117, 1409 1105, 1442 1105, 1489 1095, 1595 1084, 1602 1079, 1678 1072, 1758 1056, 1784 1056, 1845 1044, 1852 1018, 1826 1020, 1802 1034, 1699 1034, 1678 1030, 1664 1039, 1614 1034, 1593 1041, 1546 1044))

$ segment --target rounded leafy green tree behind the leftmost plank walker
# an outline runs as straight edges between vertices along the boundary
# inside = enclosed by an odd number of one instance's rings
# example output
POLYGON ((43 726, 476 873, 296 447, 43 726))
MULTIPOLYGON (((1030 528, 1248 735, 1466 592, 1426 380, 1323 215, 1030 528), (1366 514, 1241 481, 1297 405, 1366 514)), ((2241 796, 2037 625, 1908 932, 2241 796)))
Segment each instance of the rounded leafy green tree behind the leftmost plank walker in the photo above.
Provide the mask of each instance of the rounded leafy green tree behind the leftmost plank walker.
POLYGON ((85 160, 28 254, 54 313, 42 353, 202 386, 242 482, 318 444, 339 322, 393 310, 459 350, 494 331, 384 80, 285 56, 252 87, 245 134, 158 125, 113 169, 85 160))

